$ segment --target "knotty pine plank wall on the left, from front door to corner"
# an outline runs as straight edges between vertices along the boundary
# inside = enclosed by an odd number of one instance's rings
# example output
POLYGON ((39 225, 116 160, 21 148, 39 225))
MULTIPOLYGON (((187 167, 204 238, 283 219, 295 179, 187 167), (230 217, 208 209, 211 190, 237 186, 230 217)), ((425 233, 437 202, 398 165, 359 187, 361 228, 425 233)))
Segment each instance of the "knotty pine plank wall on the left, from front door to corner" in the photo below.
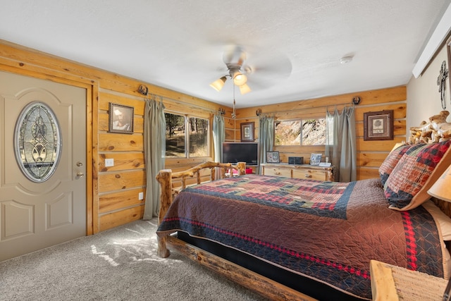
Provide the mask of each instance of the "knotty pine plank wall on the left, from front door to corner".
MULTIPOLYGON (((90 93, 87 104, 87 160, 92 161, 92 164, 87 164, 86 177, 88 235, 142 219, 144 202, 138 199, 138 194, 146 193, 146 176, 144 96, 137 92, 140 85, 146 85, 149 93, 161 96, 166 111, 193 114, 211 121, 214 112, 219 109, 218 104, 204 99, 2 40, 0 70, 87 87, 90 93), (135 108, 134 133, 108 132, 110 102, 135 108), (114 166, 105 167, 107 158, 114 159, 114 166)), ((166 168, 178 171, 204 160, 169 159, 166 168)))

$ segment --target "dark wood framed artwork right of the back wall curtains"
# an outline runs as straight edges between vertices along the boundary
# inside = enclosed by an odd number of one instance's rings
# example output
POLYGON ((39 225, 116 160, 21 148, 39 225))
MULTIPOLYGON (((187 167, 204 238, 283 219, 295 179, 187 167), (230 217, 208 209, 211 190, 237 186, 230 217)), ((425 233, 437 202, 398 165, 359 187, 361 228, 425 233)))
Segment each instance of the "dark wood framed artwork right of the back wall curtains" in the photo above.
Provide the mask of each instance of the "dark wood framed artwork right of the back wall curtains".
POLYGON ((364 140, 393 140, 393 110, 364 113, 364 140))

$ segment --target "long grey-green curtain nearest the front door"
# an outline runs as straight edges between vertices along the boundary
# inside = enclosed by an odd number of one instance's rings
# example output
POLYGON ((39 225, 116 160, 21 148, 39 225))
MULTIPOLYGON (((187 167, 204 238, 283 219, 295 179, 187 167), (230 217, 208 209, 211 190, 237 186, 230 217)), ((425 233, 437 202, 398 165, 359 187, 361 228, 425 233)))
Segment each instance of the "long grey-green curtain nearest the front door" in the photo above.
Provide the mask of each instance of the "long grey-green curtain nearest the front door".
POLYGON ((152 95, 146 99, 144 108, 144 159, 146 162, 147 192, 144 219, 158 216, 160 210, 160 187, 156 175, 164 168, 166 154, 166 119, 162 97, 159 101, 152 95))

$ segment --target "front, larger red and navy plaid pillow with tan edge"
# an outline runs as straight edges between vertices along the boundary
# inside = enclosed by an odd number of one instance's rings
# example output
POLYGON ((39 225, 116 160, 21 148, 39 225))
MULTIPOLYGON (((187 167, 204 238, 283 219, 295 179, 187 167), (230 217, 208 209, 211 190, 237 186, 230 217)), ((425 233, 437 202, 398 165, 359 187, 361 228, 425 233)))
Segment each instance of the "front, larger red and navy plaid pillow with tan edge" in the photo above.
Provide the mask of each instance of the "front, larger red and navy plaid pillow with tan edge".
POLYGON ((407 149, 384 185, 385 197, 391 209, 413 209, 429 199, 427 190, 451 164, 451 152, 448 152, 450 145, 451 140, 447 140, 412 145, 407 149), (421 194, 416 197, 419 192, 421 194))

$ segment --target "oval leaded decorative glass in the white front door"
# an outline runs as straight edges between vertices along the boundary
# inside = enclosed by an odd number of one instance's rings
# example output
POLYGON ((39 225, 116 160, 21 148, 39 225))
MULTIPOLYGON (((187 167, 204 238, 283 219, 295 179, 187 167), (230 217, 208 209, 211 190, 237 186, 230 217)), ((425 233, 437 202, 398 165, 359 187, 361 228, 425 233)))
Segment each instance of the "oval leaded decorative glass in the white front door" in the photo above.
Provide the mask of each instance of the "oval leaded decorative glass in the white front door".
POLYGON ((14 133, 17 163, 36 183, 55 172, 61 154, 61 130, 53 111, 43 102, 31 102, 20 113, 14 133))

